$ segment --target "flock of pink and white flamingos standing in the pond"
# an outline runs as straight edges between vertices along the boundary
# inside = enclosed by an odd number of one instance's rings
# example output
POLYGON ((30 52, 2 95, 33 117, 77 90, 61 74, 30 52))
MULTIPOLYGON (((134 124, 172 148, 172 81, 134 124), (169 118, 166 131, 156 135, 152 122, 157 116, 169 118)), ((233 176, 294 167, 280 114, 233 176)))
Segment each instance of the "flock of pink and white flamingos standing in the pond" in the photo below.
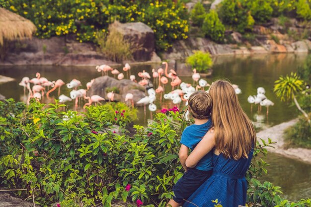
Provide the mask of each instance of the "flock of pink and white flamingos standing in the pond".
MULTIPOLYGON (((131 74, 131 66, 129 64, 125 64, 123 67, 123 71, 126 73, 127 77, 134 81, 138 82, 138 84, 144 86, 145 88, 148 88, 147 93, 148 96, 138 100, 136 104, 144 105, 145 113, 146 113, 146 105, 149 105, 149 111, 155 112, 156 111, 156 104, 154 103, 156 101, 156 94, 159 94, 160 102, 162 101, 162 97, 164 99, 169 99, 172 101, 172 104, 175 106, 179 106, 179 104, 182 101, 186 102, 189 96, 196 90, 205 90, 205 87, 209 87, 210 84, 205 80, 202 79, 200 74, 196 71, 196 69, 193 69, 192 79, 193 84, 182 82, 181 79, 177 76, 177 73, 175 70, 170 69, 168 71, 168 64, 166 62, 162 63, 165 66, 165 69, 159 68, 159 69, 153 69, 152 70, 152 76, 143 70, 142 72, 138 72, 138 76, 141 78, 139 81, 136 80, 136 76, 131 74), (150 79, 153 77, 153 87, 149 87, 150 79), (166 84, 170 81, 170 86, 172 87, 172 90, 169 93, 164 94, 164 89, 166 84), (195 85, 195 87, 193 86, 195 85)), ((111 71, 111 74, 114 75, 115 78, 121 80, 125 76, 122 72, 120 72, 117 69, 112 69, 108 65, 101 65, 96 66, 95 68, 98 72, 102 72, 103 75, 108 75, 108 72, 111 71)), ((29 78, 29 77, 23 77, 21 82, 19 83, 20 86, 24 87, 24 94, 26 93, 26 89, 29 91, 29 96, 27 100, 27 104, 29 104, 29 101, 31 98, 35 98, 37 101, 40 101, 46 92, 46 97, 50 98, 50 93, 53 92, 58 88, 58 99, 60 103, 65 103, 68 101, 75 100, 75 107, 78 107, 79 99, 84 99, 85 104, 83 105, 83 108, 86 106, 91 105, 92 103, 100 103, 100 101, 105 101, 105 99, 99 95, 92 95, 92 96, 86 96, 87 90, 92 87, 92 84, 94 82, 94 79, 91 79, 89 82, 86 83, 86 89, 78 89, 78 87, 81 86, 81 82, 77 79, 71 80, 69 83, 65 83, 63 80, 58 79, 56 81, 49 81, 45 77, 41 77, 40 73, 36 73, 36 77, 29 78), (33 84, 32 88, 30 87, 30 84, 33 84), (66 96, 64 94, 61 94, 61 86, 65 85, 73 89, 70 92, 70 97, 66 96), (52 87, 52 89, 49 90, 49 87, 52 87)), ((236 94, 241 93, 241 89, 233 84, 233 88, 235 90, 236 94)), ((208 91, 208 90, 207 90, 208 91)), ((274 103, 267 99, 267 97, 264 95, 265 89, 263 87, 257 88, 257 95, 249 96, 247 101, 251 104, 251 110, 252 110, 252 104, 258 104, 258 111, 261 110, 261 106, 267 107, 267 114, 269 111, 269 106, 273 106, 274 103)), ((114 101, 114 92, 108 92, 107 97, 109 101, 114 101)), ((125 96, 125 102, 132 107, 134 107, 134 95, 132 93, 127 93, 125 96)), ((80 101, 81 102, 81 101, 80 101)))

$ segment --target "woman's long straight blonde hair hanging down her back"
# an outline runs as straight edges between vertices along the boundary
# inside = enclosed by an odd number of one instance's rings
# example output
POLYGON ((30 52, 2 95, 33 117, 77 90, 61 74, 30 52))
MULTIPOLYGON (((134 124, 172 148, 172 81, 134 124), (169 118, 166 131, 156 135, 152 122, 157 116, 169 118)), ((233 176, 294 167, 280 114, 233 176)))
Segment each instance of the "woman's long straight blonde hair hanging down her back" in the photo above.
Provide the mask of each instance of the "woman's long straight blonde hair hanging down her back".
POLYGON ((226 158, 247 158, 251 148, 256 145, 256 133, 237 100, 232 84, 217 80, 211 85, 209 93, 213 99, 216 149, 226 158))

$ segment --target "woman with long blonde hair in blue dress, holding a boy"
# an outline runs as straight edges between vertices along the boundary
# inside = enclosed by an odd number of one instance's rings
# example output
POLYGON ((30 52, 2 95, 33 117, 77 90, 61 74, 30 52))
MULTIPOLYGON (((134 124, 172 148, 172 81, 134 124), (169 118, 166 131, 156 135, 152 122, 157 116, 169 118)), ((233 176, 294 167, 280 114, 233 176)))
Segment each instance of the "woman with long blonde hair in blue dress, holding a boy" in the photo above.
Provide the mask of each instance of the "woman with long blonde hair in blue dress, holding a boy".
POLYGON ((214 207, 218 199, 223 207, 245 206, 249 167, 256 133, 251 121, 241 109, 234 89, 228 81, 217 80, 209 92, 213 99, 210 130, 186 160, 193 168, 215 146, 213 174, 185 202, 183 207, 214 207))

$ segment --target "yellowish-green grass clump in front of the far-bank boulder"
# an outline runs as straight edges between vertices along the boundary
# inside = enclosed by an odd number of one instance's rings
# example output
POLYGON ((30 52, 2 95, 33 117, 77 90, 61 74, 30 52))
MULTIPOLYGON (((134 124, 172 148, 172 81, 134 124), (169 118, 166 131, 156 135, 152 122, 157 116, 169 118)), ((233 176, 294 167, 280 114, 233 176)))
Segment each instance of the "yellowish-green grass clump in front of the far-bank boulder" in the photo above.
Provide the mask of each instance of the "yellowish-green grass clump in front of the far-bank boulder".
POLYGON ((104 32, 97 32, 96 42, 99 45, 99 51, 109 60, 117 63, 132 60, 132 54, 136 51, 130 41, 125 40, 116 29, 110 29, 108 35, 104 32))

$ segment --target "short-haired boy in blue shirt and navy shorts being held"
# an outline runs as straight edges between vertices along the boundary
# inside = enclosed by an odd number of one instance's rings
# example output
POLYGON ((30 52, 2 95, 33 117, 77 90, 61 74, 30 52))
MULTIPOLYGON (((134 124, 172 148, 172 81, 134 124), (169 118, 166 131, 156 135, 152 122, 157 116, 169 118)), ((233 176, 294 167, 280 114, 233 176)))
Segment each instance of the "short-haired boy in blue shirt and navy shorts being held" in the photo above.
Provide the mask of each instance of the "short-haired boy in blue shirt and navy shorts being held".
POLYGON ((206 154, 195 168, 187 168, 185 164, 189 148, 193 150, 212 126, 210 118, 212 98, 210 94, 206 91, 192 93, 188 100, 188 110, 194 118, 194 124, 186 127, 183 131, 179 150, 179 159, 186 172, 173 187, 175 196, 168 202, 166 207, 179 207, 212 175, 213 171, 212 151, 206 154))

